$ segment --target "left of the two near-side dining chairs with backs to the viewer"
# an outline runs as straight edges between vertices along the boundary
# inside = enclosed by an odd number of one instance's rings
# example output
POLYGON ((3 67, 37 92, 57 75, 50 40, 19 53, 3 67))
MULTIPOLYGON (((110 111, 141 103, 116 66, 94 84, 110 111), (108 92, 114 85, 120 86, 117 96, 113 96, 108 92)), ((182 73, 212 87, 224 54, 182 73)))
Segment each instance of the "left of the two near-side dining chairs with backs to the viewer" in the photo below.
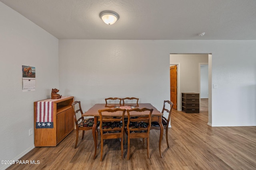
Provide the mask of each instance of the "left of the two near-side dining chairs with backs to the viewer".
MULTIPOLYGON (((124 114, 126 109, 102 109, 99 110, 100 114, 100 136, 101 136, 101 149, 100 161, 103 157, 103 141, 104 139, 121 139, 121 153, 124 159, 124 114), (104 117, 104 112, 112 112, 112 115, 118 117, 104 117)), ((109 115, 109 113, 108 113, 109 115)))

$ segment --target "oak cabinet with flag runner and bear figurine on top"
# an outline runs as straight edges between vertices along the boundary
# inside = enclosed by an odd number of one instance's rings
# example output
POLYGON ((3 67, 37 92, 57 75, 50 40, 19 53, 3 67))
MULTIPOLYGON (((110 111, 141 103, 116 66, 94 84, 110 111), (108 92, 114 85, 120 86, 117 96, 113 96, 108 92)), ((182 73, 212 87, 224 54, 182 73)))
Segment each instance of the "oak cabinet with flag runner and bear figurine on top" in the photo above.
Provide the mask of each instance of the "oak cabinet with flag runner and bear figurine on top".
MULTIPOLYGON (((35 147, 55 147, 74 130, 72 102, 74 102, 73 96, 64 96, 61 99, 46 99, 34 102, 35 147), (39 102, 41 102, 41 104, 39 102), (46 104, 47 102, 48 104, 46 104), (51 104, 49 104, 49 102, 51 102, 51 104), (52 120, 50 120, 50 122, 49 120, 46 122, 38 122, 38 113, 42 113, 43 107, 46 108, 46 112, 52 108, 52 120), (52 126, 52 128, 44 128, 47 126, 52 126)), ((45 113, 40 115, 40 117, 45 116, 47 116, 45 113)))

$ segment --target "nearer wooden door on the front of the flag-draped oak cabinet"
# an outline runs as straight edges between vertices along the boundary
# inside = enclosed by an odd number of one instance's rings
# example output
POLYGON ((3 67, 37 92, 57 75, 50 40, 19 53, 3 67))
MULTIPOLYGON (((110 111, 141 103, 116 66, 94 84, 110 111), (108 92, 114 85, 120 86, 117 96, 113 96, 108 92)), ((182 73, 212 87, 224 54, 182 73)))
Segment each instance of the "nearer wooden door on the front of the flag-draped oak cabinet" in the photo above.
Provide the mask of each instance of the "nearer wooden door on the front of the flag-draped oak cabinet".
POLYGON ((66 134, 65 111, 57 115, 57 141, 66 134))

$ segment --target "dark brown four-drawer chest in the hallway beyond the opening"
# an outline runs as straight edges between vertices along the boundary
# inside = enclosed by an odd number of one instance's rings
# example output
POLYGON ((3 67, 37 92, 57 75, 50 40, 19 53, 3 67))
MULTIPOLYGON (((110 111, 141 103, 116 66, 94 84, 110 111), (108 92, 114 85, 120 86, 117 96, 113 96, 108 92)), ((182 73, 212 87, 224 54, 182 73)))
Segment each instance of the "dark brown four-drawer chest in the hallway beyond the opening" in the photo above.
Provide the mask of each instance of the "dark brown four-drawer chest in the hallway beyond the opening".
POLYGON ((182 111, 199 113, 199 93, 182 93, 182 111))

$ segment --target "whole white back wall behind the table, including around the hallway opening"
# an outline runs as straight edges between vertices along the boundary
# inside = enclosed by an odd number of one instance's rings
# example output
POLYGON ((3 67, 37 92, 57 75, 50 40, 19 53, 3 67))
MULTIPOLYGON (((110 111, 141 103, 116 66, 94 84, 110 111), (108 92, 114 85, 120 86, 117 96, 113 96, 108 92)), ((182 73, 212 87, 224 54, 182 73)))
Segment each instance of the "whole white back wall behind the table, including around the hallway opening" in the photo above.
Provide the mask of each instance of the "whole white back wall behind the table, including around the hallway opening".
POLYGON ((218 88, 208 123, 255 126, 255 47, 230 40, 59 40, 60 90, 81 100, 84 111, 110 96, 135 96, 161 109, 170 99, 169 54, 212 53, 218 88))

